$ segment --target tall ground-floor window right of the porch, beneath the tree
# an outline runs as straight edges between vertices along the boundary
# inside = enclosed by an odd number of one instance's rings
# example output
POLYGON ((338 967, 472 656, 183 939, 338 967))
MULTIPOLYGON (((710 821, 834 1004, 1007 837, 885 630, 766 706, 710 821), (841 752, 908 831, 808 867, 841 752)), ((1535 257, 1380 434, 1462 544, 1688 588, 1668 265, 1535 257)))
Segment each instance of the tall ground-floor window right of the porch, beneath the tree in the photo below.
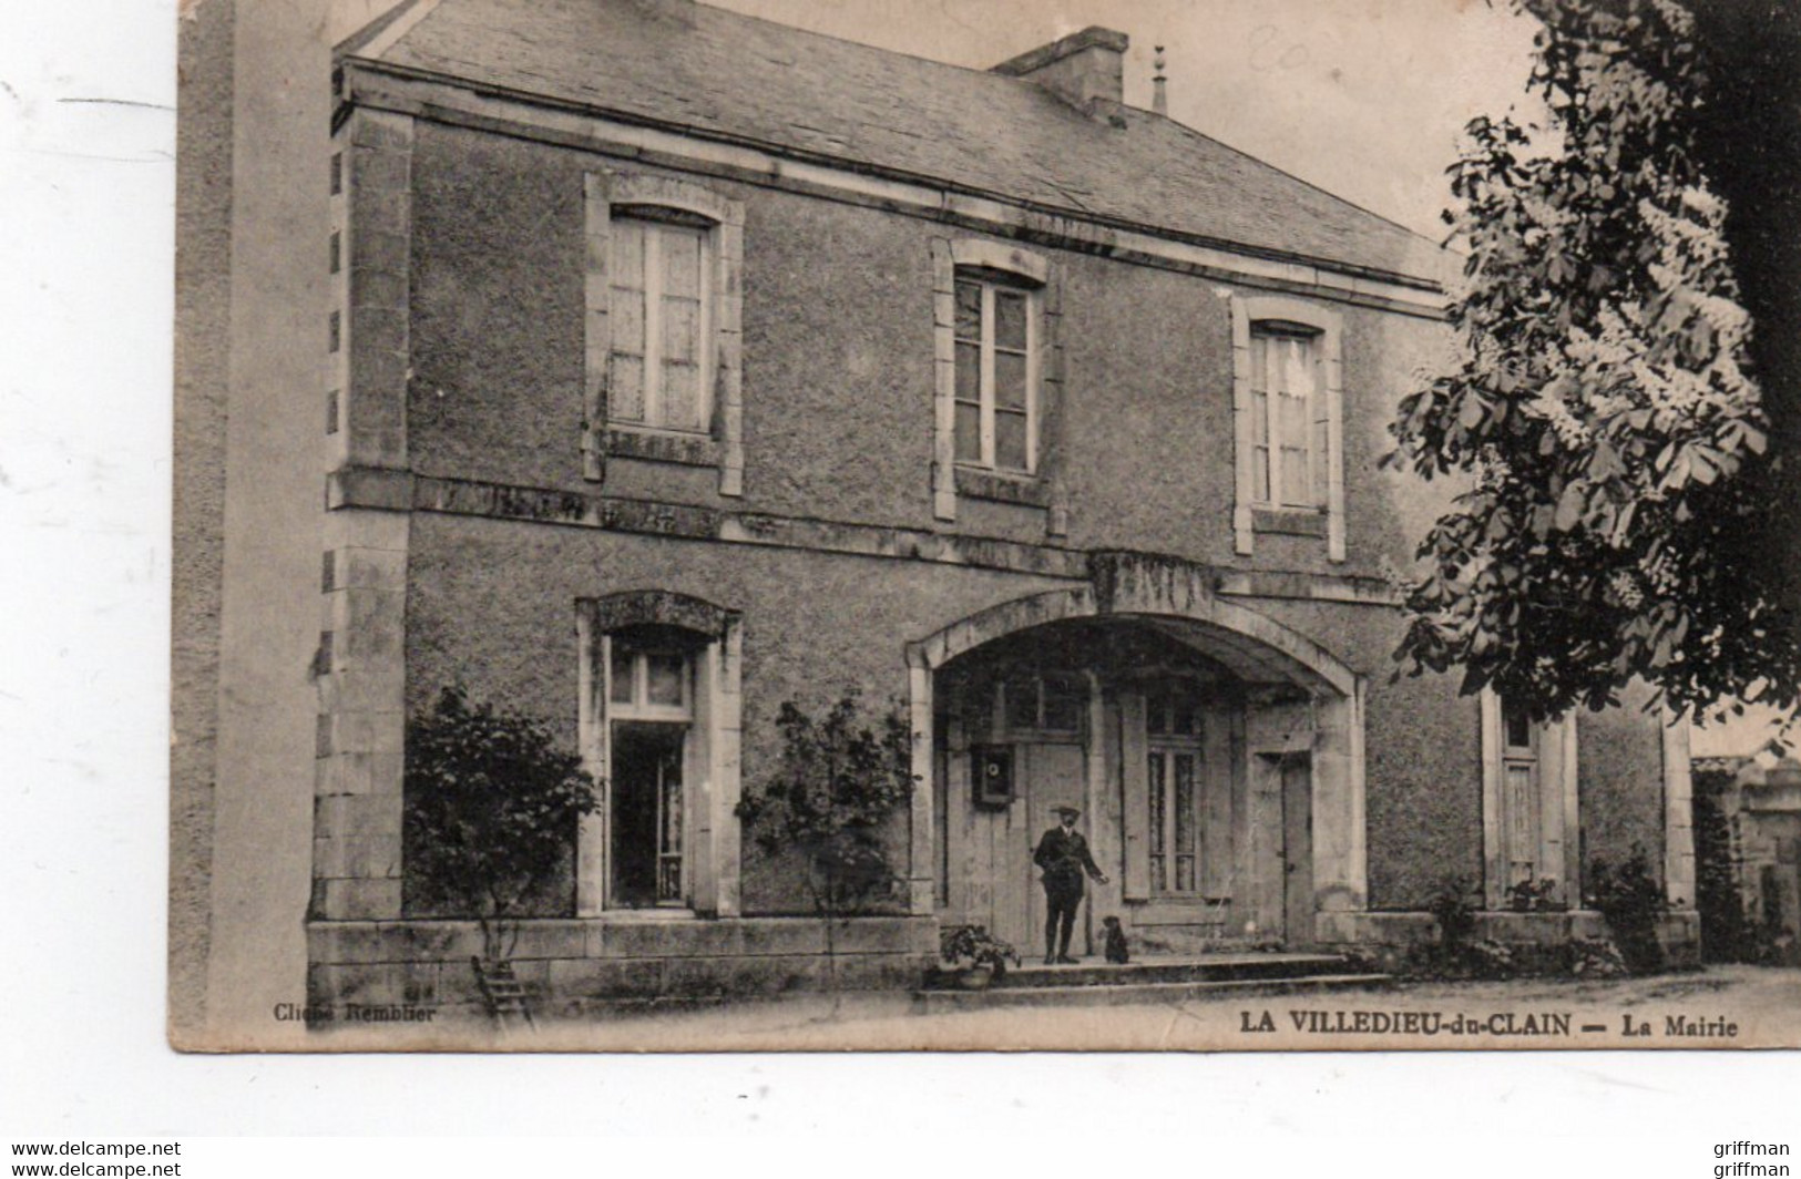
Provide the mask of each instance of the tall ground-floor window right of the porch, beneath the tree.
POLYGON ((1493 691, 1480 707, 1486 904, 1563 904, 1579 895, 1576 720, 1534 722, 1493 691))

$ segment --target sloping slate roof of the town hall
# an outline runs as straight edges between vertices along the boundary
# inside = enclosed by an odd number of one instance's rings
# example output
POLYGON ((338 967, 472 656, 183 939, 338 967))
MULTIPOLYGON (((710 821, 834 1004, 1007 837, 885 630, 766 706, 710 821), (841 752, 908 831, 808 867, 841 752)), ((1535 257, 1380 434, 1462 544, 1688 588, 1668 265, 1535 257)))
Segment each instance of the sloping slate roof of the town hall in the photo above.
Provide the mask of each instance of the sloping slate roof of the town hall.
MULTIPOLYGON (((340 54, 371 59, 393 16, 340 54)), ((1425 238, 1162 115, 1097 119, 1027 79, 695 0, 438 0, 375 59, 1261 254, 1444 266, 1425 238)))

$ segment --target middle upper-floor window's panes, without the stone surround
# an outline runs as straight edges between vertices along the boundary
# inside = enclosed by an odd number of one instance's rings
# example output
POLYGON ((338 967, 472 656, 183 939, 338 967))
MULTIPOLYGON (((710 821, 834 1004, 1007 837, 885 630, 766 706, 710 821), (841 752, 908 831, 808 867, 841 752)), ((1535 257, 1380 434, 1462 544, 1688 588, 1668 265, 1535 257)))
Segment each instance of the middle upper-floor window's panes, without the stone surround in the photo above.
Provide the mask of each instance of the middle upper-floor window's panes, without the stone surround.
POLYGON ((1037 468, 1037 292, 956 275, 956 461, 998 472, 1037 468))

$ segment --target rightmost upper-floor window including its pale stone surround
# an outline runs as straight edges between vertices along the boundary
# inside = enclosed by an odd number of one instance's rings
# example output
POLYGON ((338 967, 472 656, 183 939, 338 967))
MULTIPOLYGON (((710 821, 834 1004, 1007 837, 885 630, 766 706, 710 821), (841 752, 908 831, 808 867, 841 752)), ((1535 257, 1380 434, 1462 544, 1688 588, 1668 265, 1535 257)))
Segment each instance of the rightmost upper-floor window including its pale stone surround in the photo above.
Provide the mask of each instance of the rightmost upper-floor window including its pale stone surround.
POLYGON ((1259 533, 1322 538, 1345 558, 1340 315, 1282 297, 1232 299, 1234 549, 1259 533))

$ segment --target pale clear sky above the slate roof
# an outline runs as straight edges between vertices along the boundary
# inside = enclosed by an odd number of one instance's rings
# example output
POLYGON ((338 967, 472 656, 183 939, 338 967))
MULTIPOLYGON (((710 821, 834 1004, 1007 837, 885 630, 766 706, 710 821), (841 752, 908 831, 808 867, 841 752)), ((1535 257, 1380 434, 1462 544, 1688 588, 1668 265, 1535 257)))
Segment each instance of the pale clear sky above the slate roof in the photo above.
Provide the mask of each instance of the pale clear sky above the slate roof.
MULTIPOLYGON (((987 68, 1088 25, 1131 38, 1126 101, 1169 113, 1432 239, 1471 115, 1525 103, 1533 23, 1506 0, 715 0, 850 41, 987 68)), ((342 38, 387 0, 337 0, 342 38)), ((1533 110, 1533 108, 1527 108, 1533 110)))

